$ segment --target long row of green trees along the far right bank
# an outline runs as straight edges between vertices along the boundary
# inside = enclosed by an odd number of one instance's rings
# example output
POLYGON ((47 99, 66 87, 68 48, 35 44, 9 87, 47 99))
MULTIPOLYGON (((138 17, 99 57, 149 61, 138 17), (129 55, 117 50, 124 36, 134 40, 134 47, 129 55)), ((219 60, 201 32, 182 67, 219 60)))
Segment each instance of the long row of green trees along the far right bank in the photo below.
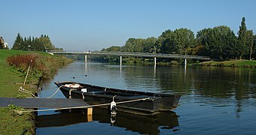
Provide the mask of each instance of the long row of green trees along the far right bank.
POLYGON ((216 60, 256 58, 256 35, 247 30, 242 18, 238 36, 227 26, 204 28, 194 32, 187 28, 166 30, 158 37, 130 38, 124 46, 111 46, 102 51, 157 52, 168 54, 206 55, 216 60))

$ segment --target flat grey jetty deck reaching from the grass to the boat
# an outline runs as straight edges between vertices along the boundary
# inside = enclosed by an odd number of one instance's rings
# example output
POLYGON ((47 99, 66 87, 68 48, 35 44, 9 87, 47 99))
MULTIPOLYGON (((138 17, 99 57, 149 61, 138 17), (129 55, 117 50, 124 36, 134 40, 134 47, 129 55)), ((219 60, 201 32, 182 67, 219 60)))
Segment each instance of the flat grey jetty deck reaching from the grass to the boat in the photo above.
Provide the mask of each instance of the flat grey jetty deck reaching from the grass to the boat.
MULTIPOLYGON (((23 108, 66 108, 89 106, 81 99, 66 98, 0 98, 0 107, 8 107, 14 104, 23 108)), ((89 108, 89 107, 84 107, 89 108)))

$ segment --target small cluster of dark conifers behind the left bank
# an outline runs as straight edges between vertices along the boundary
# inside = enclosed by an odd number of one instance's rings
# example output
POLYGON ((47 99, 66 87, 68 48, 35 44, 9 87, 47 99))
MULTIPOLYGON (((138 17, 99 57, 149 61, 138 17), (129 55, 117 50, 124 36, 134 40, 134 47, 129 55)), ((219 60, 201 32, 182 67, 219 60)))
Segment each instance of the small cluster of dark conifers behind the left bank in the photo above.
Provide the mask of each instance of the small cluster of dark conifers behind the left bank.
MULTIPOLYGON (((43 51, 46 50, 59 50, 50 41, 50 37, 46 34, 41 34, 40 37, 21 37, 18 33, 16 40, 14 41, 14 46, 12 49, 26 50, 26 51, 43 51)), ((62 49, 60 49, 62 50, 62 49)))

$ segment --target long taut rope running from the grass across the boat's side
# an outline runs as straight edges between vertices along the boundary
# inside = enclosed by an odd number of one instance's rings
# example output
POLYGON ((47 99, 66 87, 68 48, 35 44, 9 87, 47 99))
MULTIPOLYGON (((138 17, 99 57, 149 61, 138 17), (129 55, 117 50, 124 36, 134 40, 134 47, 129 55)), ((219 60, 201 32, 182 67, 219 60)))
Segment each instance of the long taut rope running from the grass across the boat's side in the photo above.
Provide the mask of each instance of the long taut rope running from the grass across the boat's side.
MULTIPOLYGON (((125 103, 130 103, 130 102, 136 102, 136 101, 145 101, 151 98, 140 98, 136 100, 131 100, 131 101, 121 101, 117 102, 116 104, 125 104, 125 103)), ((80 106, 80 107, 63 107, 63 108, 56 108, 56 109, 48 109, 48 110, 14 110, 15 112, 22 114, 22 113, 27 113, 27 112, 44 112, 44 111, 53 111, 53 110, 70 110, 70 109, 81 109, 81 108, 90 108, 90 107, 102 107, 102 106, 108 106, 111 104, 95 104, 95 105, 89 105, 89 106, 80 106)))

